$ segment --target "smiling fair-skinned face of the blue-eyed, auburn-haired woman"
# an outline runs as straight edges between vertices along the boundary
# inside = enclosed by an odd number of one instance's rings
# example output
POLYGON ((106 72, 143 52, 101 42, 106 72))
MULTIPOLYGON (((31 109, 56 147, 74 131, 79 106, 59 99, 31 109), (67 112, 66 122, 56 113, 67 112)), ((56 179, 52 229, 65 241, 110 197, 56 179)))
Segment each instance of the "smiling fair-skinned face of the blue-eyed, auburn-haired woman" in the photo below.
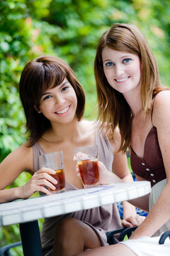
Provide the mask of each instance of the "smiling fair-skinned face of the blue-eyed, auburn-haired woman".
POLYGON ((140 58, 137 55, 104 47, 102 60, 108 83, 115 90, 125 94, 140 86, 140 58))

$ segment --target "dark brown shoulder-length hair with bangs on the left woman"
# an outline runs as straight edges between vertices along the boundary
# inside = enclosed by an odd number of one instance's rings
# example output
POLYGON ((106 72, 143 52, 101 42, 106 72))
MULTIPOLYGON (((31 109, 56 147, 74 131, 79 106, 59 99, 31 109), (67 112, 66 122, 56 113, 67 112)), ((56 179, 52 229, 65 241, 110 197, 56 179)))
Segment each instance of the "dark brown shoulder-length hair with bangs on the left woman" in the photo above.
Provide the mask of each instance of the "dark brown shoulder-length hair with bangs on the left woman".
POLYGON ((31 60, 23 68, 19 82, 19 92, 26 114, 28 146, 33 146, 51 126, 49 119, 36 111, 40 106, 40 97, 47 89, 60 85, 64 78, 67 78, 76 92, 76 115, 79 121, 84 114, 84 89, 67 63, 64 63, 60 58, 45 55, 31 60))

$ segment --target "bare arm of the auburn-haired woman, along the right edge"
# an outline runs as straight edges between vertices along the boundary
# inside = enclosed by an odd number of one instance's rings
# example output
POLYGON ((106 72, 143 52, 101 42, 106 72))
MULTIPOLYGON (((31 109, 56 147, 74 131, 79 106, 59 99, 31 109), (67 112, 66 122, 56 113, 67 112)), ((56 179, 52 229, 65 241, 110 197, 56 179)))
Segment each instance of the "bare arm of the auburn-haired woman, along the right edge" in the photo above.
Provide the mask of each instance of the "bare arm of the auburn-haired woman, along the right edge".
POLYGON ((159 93, 154 101, 153 124, 157 127, 159 146, 166 170, 166 186, 157 202, 135 233, 130 237, 152 236, 167 220, 170 212, 170 92, 159 93), (164 210, 162 210, 164 209, 164 210))

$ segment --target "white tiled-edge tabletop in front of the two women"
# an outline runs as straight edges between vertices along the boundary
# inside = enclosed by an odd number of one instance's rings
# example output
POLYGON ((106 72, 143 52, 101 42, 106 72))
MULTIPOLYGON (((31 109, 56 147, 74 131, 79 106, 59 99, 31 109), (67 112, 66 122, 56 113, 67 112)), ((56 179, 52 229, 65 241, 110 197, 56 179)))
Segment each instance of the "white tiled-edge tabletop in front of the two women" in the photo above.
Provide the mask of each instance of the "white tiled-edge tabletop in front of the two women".
POLYGON ((0 203, 0 226, 118 203, 145 196, 150 191, 149 181, 134 181, 0 203))

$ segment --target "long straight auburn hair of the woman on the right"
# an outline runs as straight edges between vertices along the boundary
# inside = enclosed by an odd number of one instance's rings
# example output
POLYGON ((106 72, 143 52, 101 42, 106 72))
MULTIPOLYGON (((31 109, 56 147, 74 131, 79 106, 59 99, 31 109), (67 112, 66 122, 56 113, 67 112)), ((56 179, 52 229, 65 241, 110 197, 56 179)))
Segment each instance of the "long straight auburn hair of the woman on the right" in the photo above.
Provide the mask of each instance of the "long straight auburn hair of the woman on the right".
MULTIPOLYGON (((103 71, 102 50, 104 47, 132 53, 140 58, 141 63, 141 99, 145 114, 152 107, 152 99, 158 92, 165 90, 159 79, 157 61, 140 30, 124 23, 115 23, 98 41, 94 73, 98 97, 98 119, 101 128, 106 125, 113 134, 116 126, 120 129, 120 150, 126 151, 130 144, 132 111, 123 94, 109 85, 103 71)), ((113 135, 112 135, 113 137, 113 135)), ((114 139, 114 138, 113 138, 114 139)))

